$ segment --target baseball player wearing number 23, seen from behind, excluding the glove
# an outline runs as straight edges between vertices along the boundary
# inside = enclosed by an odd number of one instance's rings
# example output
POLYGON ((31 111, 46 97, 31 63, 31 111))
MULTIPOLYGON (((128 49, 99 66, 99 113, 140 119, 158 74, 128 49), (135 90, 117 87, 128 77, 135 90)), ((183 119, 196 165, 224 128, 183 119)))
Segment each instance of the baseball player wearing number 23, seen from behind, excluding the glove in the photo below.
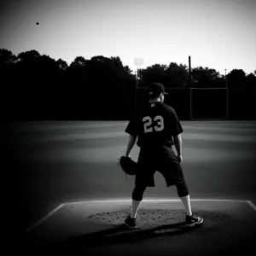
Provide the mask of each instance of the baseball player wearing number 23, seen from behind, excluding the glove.
POLYGON ((137 111, 125 132, 129 134, 125 156, 130 157, 131 149, 137 140, 140 148, 135 176, 135 187, 131 195, 131 214, 125 218, 125 224, 136 228, 137 210, 143 201, 147 187, 154 187, 154 173, 160 172, 166 179, 166 186, 175 185, 177 195, 186 211, 186 225, 201 224, 203 218, 191 211, 189 189, 183 176, 181 162, 183 128, 174 109, 164 103, 165 88, 162 84, 148 85, 149 102, 137 111), (177 155, 172 150, 177 149, 177 155))

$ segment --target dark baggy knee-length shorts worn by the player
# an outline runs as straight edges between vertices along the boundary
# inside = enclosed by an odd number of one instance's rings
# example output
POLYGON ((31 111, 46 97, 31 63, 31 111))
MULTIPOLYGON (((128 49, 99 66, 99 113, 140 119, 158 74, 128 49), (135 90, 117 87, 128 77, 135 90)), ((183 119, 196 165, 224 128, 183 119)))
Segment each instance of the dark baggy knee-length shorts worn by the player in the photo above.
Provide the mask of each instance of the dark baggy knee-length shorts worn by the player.
POLYGON ((166 186, 183 183, 183 169, 177 161, 172 148, 141 148, 138 156, 139 172, 135 183, 142 186, 154 187, 154 173, 160 172, 166 179, 166 186))

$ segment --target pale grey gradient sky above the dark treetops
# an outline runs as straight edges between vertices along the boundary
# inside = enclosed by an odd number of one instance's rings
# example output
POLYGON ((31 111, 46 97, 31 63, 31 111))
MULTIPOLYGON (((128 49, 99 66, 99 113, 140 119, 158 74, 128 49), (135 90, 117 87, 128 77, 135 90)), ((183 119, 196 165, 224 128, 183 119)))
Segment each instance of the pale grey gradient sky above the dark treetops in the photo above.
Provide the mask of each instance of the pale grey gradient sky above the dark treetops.
POLYGON ((69 65, 119 56, 136 70, 170 62, 220 74, 256 69, 256 0, 1 0, 0 48, 69 65), (39 22, 39 25, 36 23, 39 22))

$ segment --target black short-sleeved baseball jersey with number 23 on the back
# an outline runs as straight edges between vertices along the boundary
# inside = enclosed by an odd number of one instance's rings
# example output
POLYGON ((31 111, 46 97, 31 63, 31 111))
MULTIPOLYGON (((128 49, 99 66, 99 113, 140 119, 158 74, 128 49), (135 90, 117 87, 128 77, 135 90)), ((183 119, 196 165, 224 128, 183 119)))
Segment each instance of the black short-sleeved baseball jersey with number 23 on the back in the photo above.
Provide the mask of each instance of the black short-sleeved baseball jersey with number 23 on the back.
POLYGON ((149 102, 131 119, 125 132, 138 137, 137 146, 172 146, 172 136, 183 132, 174 109, 162 102, 149 102))

